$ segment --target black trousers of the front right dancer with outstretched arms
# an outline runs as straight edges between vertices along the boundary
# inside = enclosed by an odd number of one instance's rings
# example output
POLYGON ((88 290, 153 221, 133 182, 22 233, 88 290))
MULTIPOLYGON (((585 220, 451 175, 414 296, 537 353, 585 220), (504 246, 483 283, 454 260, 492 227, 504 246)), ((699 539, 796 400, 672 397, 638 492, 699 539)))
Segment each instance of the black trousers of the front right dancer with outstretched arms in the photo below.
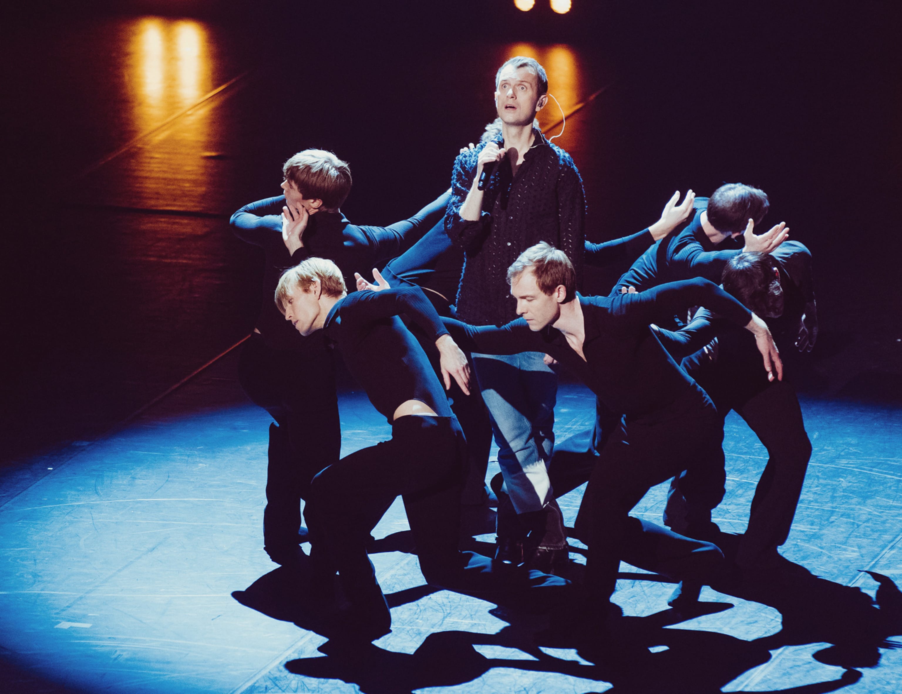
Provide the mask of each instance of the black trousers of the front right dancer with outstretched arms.
POLYGON ((711 400, 693 386, 652 416, 622 421, 601 450, 580 507, 586 528, 587 590, 592 607, 606 611, 620 561, 669 578, 705 582, 723 561, 710 542, 696 541, 630 516, 649 488, 683 472, 682 488, 696 504, 709 504, 704 465, 721 445, 723 429, 711 400))

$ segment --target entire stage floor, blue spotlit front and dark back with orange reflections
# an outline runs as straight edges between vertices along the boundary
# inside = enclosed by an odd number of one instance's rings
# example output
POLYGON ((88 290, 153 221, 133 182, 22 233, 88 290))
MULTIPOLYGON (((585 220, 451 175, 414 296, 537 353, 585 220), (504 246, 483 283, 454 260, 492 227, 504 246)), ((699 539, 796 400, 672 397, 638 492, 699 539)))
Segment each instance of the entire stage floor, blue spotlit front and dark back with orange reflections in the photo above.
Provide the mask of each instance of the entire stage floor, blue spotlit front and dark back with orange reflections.
MULTIPOLYGON (((309 11, 340 14, 338 2, 254 4, 247 21, 121 5, 39 7, 0 44, 0 689, 897 692, 891 4, 735 17, 724 4, 620 4, 573 37, 555 35, 550 12, 543 33, 497 18, 420 26, 373 3, 335 26, 309 11), (425 587, 395 504, 373 554, 392 633, 353 658, 319 651, 297 577, 262 550, 269 420, 235 383, 235 352, 160 396, 253 327, 262 259, 227 219, 279 193, 281 162, 334 150, 354 170, 349 218, 408 217, 448 185, 457 149, 492 118, 495 68, 517 53, 546 65, 569 114, 555 142, 583 176, 590 240, 653 222, 673 190, 743 180, 771 196, 767 222, 786 219, 811 248, 821 333, 796 375, 814 454, 786 570, 705 588, 708 614, 683 620, 672 586, 623 565, 626 648, 590 662, 543 617, 425 587), (862 569, 888 577, 879 606, 862 569)), ((539 120, 557 133, 558 116, 539 120)), ((625 269, 587 274, 586 293, 625 269)), ((387 434, 361 393, 341 405, 345 452, 387 434)), ((562 386, 558 438, 592 407, 562 386)), ((725 447, 716 520, 742 532, 765 454, 734 415, 725 447)), ((567 523, 581 494, 562 500, 567 523)), ((663 503, 652 489, 635 513, 659 519, 663 503)), ((491 541, 491 511, 465 520, 491 541)))

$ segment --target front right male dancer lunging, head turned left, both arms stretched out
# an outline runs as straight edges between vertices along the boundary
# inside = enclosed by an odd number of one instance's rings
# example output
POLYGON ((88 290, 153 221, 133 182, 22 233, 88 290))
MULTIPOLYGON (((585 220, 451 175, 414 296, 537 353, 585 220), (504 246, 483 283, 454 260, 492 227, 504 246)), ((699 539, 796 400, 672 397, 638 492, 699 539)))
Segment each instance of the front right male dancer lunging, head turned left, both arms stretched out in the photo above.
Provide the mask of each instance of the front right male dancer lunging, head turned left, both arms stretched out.
MULTIPOLYGON (((720 445, 720 421, 704 391, 661 347, 649 324, 695 304, 711 306, 750 330, 770 377, 782 365, 764 322, 712 282, 696 278, 616 297, 575 294, 566 254, 538 244, 508 271, 521 318, 502 328, 445 319, 461 347, 485 353, 545 352, 567 366, 612 412, 624 412, 594 467, 580 514, 588 523, 588 593, 592 614, 609 612, 619 562, 701 581, 723 558, 710 543, 691 541, 629 515, 649 487, 686 470, 688 497, 708 490, 699 466, 720 445)), ((704 504, 700 499, 698 503, 704 504)))

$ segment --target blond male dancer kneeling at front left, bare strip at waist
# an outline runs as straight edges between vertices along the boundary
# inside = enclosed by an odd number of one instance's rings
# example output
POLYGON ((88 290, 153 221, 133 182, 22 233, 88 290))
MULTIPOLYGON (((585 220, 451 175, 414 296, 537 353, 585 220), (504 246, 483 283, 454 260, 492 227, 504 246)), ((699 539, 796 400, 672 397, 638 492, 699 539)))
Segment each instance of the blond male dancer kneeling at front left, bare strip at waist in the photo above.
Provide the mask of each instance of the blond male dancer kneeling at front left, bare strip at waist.
POLYGON ((308 258, 282 276, 276 303, 301 335, 321 332, 334 342, 391 423, 390 440, 345 456, 314 477, 304 512, 314 569, 325 580, 337 571, 351 603, 345 635, 372 640, 391 628, 366 540, 397 495, 403 496, 419 566, 430 584, 495 601, 524 589, 532 598, 564 597, 564 579, 457 551, 464 437, 426 354, 399 314, 414 319, 433 340, 446 387, 453 376, 466 392, 469 366, 423 292, 402 287, 348 296, 336 264, 308 258))

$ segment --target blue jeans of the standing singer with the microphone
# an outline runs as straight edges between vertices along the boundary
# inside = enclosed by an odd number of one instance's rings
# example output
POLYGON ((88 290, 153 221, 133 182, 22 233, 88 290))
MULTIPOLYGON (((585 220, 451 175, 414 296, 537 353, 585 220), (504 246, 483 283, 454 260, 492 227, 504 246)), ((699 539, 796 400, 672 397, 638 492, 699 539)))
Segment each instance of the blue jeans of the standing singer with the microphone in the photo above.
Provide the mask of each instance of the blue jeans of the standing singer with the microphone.
POLYGON ((473 355, 476 379, 492 415, 498 465, 518 514, 541 511, 554 498, 548 461, 554 447, 557 371, 541 352, 473 355))

